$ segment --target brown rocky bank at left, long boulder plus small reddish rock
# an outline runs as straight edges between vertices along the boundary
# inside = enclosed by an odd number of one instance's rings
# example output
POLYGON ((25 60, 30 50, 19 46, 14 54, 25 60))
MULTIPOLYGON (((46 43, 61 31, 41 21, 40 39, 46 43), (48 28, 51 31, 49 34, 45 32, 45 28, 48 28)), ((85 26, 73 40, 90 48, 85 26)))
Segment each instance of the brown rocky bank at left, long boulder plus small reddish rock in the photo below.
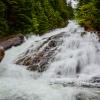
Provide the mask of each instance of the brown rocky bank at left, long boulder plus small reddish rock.
POLYGON ((5 50, 13 47, 18 46, 24 42, 24 36, 21 34, 12 35, 8 37, 0 37, 0 62, 2 61, 5 50))

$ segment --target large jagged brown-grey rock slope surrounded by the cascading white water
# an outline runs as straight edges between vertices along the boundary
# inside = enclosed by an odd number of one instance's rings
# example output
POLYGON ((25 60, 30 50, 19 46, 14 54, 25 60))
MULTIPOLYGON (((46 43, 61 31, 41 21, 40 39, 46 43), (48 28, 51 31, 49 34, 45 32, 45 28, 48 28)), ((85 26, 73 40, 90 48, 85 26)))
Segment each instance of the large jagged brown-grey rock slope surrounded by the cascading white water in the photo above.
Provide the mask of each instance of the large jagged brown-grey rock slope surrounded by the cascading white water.
MULTIPOLYGON (((55 55, 57 46, 62 43, 64 33, 49 37, 46 41, 38 47, 35 53, 27 50, 23 56, 19 56, 15 61, 16 64, 28 66, 27 69, 31 71, 43 72, 47 70, 55 55)), ((31 50, 32 51, 32 50, 31 50)))

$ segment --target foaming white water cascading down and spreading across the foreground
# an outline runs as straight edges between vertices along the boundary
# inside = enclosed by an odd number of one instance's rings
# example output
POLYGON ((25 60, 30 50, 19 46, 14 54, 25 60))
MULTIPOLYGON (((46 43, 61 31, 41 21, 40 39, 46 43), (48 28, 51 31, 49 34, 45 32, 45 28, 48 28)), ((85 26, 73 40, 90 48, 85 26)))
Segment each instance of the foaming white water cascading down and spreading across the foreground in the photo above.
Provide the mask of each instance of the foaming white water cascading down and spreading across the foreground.
POLYGON ((21 46, 6 51, 0 63, 0 100, 100 100, 100 43, 94 33, 81 36, 84 29, 74 21, 44 36, 31 36, 21 46), (54 61, 39 74, 14 60, 33 45, 35 49, 54 35, 65 32, 54 61), (79 66, 79 72, 76 68, 79 66), (88 87, 84 87, 88 86, 88 87))

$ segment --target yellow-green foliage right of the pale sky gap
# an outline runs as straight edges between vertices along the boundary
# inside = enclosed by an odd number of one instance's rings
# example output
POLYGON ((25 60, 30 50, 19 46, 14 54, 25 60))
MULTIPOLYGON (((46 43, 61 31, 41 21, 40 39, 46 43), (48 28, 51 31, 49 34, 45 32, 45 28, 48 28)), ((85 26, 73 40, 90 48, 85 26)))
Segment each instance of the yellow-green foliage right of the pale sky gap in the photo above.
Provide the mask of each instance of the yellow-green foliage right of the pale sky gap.
POLYGON ((100 31, 100 0, 79 0, 77 21, 86 30, 100 31))

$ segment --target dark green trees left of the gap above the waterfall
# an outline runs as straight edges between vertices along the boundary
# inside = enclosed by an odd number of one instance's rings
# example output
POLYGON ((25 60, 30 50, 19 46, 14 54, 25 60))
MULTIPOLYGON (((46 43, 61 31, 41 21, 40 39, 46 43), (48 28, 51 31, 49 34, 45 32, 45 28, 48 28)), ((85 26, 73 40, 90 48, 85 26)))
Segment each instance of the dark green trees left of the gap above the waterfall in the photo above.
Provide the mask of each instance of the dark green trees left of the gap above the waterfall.
POLYGON ((0 0, 0 35, 43 34, 64 27, 72 16, 65 0, 0 0))

